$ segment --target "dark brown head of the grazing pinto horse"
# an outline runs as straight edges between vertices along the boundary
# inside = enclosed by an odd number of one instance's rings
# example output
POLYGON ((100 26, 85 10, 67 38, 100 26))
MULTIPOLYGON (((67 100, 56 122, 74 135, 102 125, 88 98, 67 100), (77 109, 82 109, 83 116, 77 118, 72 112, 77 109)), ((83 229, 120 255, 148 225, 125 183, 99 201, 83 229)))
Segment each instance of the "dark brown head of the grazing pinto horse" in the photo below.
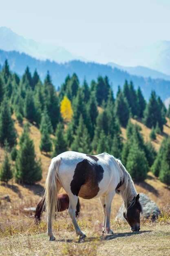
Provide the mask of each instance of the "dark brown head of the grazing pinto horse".
POLYGON ((142 206, 139 202, 139 194, 137 194, 130 205, 127 206, 124 211, 124 218, 129 223, 132 231, 140 230, 140 213, 142 212, 142 206))

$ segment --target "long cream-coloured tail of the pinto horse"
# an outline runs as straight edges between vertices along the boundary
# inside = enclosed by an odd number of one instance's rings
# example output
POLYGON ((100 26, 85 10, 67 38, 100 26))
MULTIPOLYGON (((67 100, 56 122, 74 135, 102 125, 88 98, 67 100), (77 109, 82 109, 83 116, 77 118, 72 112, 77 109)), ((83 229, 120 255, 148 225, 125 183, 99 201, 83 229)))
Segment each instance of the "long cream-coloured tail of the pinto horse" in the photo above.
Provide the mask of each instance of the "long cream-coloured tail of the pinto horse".
POLYGON ((45 183, 45 211, 46 211, 46 220, 48 223, 53 222, 53 218, 55 218, 55 211, 57 211, 58 204, 58 188, 57 188, 57 180, 58 180, 58 168, 61 162, 60 157, 54 157, 51 160, 51 164, 49 166, 49 172, 46 178, 45 183))

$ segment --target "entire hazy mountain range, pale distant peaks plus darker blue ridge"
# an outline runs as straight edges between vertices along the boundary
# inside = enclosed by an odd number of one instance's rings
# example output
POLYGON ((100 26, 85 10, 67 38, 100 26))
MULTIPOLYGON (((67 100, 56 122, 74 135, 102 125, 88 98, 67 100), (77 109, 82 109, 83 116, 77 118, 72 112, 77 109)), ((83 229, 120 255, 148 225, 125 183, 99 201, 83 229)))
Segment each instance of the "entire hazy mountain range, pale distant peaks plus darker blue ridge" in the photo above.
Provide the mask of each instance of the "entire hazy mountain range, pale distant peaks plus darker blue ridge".
POLYGON ((113 60, 117 60, 118 63, 128 63, 128 65, 118 65, 113 62, 104 65, 90 62, 59 46, 25 39, 7 27, 0 27, 0 65, 3 65, 7 58, 10 69, 20 76, 26 66, 29 66, 32 73, 37 69, 42 81, 49 70, 56 88, 64 82, 68 74, 72 75, 74 72, 78 75, 80 83, 83 83, 84 79, 90 83, 99 75, 107 75, 114 93, 117 92, 117 86, 122 87, 126 79, 133 81, 136 89, 138 86, 141 87, 146 100, 149 99, 151 90, 155 90, 165 100, 170 97, 169 53, 168 41, 133 48, 113 44, 110 56, 113 56, 113 60), (144 66, 137 64, 133 67, 135 63, 142 63, 144 66))

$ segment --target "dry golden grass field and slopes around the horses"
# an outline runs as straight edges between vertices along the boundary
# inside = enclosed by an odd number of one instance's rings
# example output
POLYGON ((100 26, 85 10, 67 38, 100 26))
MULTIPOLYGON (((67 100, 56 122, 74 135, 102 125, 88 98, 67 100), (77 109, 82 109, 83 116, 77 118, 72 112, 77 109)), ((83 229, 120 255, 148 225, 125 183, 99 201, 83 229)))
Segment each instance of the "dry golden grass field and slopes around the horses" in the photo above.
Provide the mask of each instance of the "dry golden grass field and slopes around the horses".
MULTIPOLYGON (((167 121, 163 135, 158 135, 157 140, 152 142, 157 150, 163 136, 170 135, 170 121, 167 121)), ((132 122, 137 122, 142 128, 144 138, 149 139, 150 129, 134 119, 132 122)), ((20 136, 22 127, 17 121, 15 128, 20 136)), ((80 198, 79 225, 88 238, 79 240, 75 236, 71 220, 65 211, 59 213, 57 221, 53 223, 56 240, 49 242, 44 220, 40 225, 35 225, 31 218, 33 213, 24 211, 24 207, 35 207, 42 198, 51 161, 49 155, 41 154, 39 150, 40 132, 36 126, 30 127, 30 135, 35 144, 36 155, 41 157, 43 179, 34 186, 23 186, 14 181, 8 185, 0 183, 0 255, 170 255, 170 189, 152 173, 148 173, 147 179, 135 186, 139 193, 146 193, 163 208, 163 215, 156 222, 142 220, 141 231, 132 233, 128 224, 115 221, 122 204, 120 196, 116 194, 111 214, 111 228, 115 234, 102 236, 103 214, 99 200, 80 198), (4 195, 9 195, 11 202, 4 200, 4 195)), ((124 129, 122 136, 126 139, 124 129)), ((2 159, 3 150, 0 148, 0 162, 2 159)))

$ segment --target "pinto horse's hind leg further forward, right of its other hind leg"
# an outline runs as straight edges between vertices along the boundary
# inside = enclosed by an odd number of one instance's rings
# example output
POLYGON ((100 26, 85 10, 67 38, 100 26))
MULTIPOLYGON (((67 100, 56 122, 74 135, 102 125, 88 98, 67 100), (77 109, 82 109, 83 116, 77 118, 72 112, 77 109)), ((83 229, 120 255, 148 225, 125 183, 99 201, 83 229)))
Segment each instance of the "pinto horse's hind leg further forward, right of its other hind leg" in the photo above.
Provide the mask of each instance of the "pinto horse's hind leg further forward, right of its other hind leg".
POLYGON ((75 232, 77 234, 77 236, 79 236, 79 238, 85 238, 86 235, 83 234, 83 232, 81 231, 81 229, 79 228, 79 225, 77 223, 77 220, 75 218, 75 207, 77 205, 77 201, 78 201, 78 197, 76 195, 68 194, 69 196, 69 207, 68 207, 68 214, 73 222, 73 226, 75 228, 75 232))

